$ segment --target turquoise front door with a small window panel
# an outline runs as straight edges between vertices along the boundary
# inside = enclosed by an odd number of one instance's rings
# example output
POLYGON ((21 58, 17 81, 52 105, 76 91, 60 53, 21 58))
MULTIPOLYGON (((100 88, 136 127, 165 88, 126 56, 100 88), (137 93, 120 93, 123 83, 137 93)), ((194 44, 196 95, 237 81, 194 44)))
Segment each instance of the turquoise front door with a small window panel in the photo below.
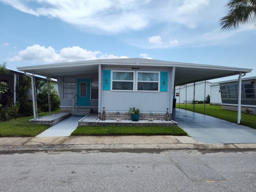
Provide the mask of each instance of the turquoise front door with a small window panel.
POLYGON ((77 106, 90 106, 90 79, 77 79, 77 106))

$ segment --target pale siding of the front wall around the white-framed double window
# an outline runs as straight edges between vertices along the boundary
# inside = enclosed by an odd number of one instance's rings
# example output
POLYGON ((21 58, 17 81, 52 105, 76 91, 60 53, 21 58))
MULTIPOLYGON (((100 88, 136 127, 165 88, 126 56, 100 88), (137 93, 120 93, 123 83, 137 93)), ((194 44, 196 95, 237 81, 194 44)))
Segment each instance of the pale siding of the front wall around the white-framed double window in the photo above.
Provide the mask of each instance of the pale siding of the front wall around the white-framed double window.
MULTIPOLYGON (((173 68, 149 69, 141 66, 136 71, 168 71, 167 92, 139 92, 139 91, 106 91, 101 88, 101 109, 105 107, 108 112, 127 112, 130 108, 139 108, 141 112, 166 112, 170 108, 172 100, 171 73, 173 68)), ((117 70, 116 68, 103 68, 103 70, 117 70)), ((119 68, 120 69, 120 68, 119 68)), ((123 68, 122 70, 130 70, 123 68)), ((101 110, 102 111, 102 110, 101 110)))

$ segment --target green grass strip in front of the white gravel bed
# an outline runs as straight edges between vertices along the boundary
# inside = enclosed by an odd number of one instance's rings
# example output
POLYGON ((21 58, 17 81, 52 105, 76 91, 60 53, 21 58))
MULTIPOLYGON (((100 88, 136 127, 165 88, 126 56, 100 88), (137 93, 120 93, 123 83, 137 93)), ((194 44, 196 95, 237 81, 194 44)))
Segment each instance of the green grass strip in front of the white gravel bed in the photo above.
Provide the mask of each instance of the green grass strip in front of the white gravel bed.
POLYGON ((113 136, 113 135, 176 135, 187 136, 177 126, 79 126, 71 136, 113 136))

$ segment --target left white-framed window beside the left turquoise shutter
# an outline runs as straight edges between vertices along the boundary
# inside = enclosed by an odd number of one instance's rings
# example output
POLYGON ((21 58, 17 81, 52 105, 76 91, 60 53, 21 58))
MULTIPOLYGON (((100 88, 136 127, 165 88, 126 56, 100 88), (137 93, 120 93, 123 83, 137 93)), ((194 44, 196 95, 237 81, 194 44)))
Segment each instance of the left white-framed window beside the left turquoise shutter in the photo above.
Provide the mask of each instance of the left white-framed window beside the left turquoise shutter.
POLYGON ((133 71, 112 71, 112 90, 133 91, 133 71))

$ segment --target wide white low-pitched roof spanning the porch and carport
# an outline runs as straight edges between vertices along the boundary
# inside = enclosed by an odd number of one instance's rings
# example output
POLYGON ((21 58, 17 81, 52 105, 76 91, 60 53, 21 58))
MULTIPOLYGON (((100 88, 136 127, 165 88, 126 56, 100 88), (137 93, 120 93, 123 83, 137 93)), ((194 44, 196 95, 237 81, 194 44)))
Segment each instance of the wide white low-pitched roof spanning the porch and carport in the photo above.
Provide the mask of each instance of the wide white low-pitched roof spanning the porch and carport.
POLYGON ((237 75, 239 72, 249 73, 252 69, 235 68, 225 66, 202 65, 194 63, 182 63, 161 61, 154 59, 97 59, 91 61, 55 63, 37 66, 17 67, 19 71, 34 73, 36 75, 56 78, 58 76, 83 75, 98 73, 98 65, 109 66, 148 66, 156 70, 167 70, 175 67, 174 85, 183 85, 193 82, 211 80, 220 77, 237 75))

